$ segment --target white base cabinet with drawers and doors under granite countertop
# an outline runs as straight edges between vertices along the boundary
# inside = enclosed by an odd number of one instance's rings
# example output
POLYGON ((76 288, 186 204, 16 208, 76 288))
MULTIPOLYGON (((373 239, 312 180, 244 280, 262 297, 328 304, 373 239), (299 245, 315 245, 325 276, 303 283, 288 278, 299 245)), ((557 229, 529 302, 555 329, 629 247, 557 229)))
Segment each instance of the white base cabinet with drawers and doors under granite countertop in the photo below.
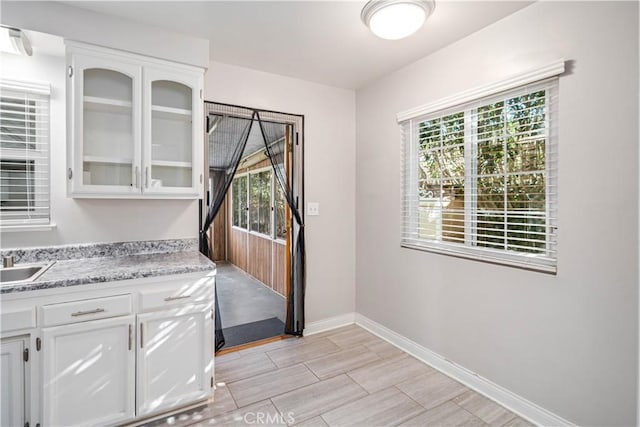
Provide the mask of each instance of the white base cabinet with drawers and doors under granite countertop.
POLYGON ((214 286, 189 273, 4 295, 2 425, 123 425, 204 402, 214 286))

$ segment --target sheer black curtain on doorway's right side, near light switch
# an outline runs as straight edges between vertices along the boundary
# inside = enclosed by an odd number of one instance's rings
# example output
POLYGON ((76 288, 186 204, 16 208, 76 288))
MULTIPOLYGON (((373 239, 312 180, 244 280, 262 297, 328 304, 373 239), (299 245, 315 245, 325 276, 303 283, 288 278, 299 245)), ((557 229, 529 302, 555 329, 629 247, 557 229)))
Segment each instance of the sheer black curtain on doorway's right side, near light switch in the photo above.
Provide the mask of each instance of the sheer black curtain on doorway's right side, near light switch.
MULTIPOLYGON (((289 272, 289 295, 287 296, 287 317, 285 333, 290 335, 302 335, 304 329, 304 294, 305 294, 305 269, 306 252, 304 242, 304 222, 298 208, 298 202, 294 196, 292 180, 287 179, 285 159, 287 155, 286 139, 293 144, 293 134, 288 126, 278 122, 278 113, 256 111, 256 119, 260 125, 260 131, 264 140, 265 152, 271 161, 274 176, 282 189, 284 198, 289 206, 291 216, 295 221, 297 231, 293 243, 292 269, 289 272)), ((291 175, 292 177, 295 174, 291 175)))

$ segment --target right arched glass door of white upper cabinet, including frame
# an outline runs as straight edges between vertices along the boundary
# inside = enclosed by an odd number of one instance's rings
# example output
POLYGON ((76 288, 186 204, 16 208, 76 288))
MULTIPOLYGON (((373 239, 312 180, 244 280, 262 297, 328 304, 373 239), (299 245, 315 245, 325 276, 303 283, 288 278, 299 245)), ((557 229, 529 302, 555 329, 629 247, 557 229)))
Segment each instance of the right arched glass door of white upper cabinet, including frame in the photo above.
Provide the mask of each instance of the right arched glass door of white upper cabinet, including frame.
POLYGON ((145 128, 144 193, 195 194, 199 185, 197 150, 203 138, 197 79, 145 69, 150 115, 145 128), (198 92, 198 93, 196 93, 198 92))

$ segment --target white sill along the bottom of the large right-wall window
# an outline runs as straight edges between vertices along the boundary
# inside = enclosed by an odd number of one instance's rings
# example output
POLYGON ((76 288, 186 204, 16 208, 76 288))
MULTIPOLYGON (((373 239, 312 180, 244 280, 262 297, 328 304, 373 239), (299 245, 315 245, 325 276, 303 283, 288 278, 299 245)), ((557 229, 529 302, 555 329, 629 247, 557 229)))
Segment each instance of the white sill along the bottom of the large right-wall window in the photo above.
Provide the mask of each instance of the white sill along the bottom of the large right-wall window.
MULTIPOLYGON (((401 247, 407 249, 415 249, 423 252, 432 252, 440 255, 448 255, 457 258, 469 259, 472 261, 480 261, 489 264, 496 265, 504 265, 507 267, 515 267, 523 270, 536 271, 540 273, 547 274, 557 274, 557 266, 546 264, 546 263, 535 263, 531 261, 526 261, 524 259, 520 260, 517 256, 501 256, 501 254, 493 254, 489 251, 485 250, 474 250, 470 248, 453 248, 453 247, 434 247, 434 246, 426 246, 419 244, 410 244, 410 243, 401 243, 401 247)), ((526 258, 526 257, 522 257, 526 258)))

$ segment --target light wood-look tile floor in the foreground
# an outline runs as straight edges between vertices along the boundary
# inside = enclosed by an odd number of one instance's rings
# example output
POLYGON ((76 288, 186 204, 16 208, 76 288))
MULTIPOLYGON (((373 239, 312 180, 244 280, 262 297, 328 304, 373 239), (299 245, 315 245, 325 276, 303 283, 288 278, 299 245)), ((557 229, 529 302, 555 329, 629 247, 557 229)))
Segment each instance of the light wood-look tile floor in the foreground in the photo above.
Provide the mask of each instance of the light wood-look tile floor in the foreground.
POLYGON ((211 402, 152 425, 531 426, 358 326, 228 353, 215 369, 211 402))

